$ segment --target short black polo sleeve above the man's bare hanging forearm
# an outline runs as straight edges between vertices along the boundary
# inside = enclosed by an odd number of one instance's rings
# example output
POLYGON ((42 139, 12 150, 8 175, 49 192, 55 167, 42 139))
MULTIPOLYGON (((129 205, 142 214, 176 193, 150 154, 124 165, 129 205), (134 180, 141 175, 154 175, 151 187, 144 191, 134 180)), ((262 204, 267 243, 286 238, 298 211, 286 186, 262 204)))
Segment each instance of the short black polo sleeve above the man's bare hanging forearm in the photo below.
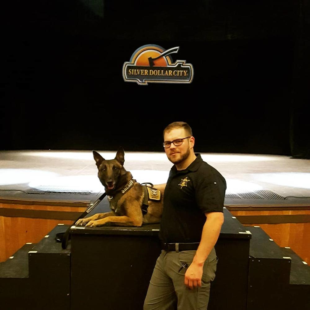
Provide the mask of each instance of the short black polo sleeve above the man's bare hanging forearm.
POLYGON ((203 213, 223 212, 226 181, 223 177, 211 174, 198 180, 195 189, 197 206, 203 213))

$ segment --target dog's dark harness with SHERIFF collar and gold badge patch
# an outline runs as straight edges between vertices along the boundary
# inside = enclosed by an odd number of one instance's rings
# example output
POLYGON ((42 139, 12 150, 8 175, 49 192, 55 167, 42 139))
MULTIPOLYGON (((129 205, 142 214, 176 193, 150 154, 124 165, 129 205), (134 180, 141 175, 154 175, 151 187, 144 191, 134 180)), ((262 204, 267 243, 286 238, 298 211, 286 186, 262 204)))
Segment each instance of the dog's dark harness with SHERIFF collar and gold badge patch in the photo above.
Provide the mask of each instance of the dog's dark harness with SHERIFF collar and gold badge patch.
MULTIPOLYGON (((115 213, 117 213, 117 202, 121 199, 121 197, 128 192, 133 185, 136 183, 135 179, 131 179, 126 186, 119 192, 117 193, 115 196, 111 196, 108 195, 108 201, 110 204, 110 208, 111 210, 113 210, 115 213)), ((144 199, 142 202, 142 214, 145 215, 148 213, 148 201, 149 200, 155 200, 155 201, 159 201, 160 200, 160 191, 158 189, 153 188, 153 184, 152 183, 142 183, 141 185, 143 185, 143 190, 144 190, 144 199), (150 184, 150 186, 146 186, 143 184, 150 184)))

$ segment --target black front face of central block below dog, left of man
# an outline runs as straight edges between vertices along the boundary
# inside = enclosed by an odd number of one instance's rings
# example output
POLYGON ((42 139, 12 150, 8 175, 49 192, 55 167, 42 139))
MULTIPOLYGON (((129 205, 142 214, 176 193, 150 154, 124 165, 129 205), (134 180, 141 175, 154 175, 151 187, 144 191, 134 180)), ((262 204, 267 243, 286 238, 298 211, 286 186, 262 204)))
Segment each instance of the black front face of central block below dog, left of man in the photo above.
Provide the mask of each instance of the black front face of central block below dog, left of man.
POLYGON ((161 252, 157 237, 82 235, 71 242, 72 309, 143 308, 161 252))

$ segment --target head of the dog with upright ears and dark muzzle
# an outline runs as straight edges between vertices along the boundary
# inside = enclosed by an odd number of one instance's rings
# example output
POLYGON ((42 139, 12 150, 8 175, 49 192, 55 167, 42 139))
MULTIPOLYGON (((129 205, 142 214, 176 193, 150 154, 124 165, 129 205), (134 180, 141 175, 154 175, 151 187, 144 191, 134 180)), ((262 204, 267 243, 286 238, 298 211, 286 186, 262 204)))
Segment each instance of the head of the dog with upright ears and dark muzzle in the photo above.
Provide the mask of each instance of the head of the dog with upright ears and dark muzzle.
POLYGON ((123 167, 124 149, 120 147, 114 159, 104 159, 99 153, 93 151, 96 166, 98 168, 98 178, 106 191, 112 191, 117 188, 122 176, 126 175, 123 167))

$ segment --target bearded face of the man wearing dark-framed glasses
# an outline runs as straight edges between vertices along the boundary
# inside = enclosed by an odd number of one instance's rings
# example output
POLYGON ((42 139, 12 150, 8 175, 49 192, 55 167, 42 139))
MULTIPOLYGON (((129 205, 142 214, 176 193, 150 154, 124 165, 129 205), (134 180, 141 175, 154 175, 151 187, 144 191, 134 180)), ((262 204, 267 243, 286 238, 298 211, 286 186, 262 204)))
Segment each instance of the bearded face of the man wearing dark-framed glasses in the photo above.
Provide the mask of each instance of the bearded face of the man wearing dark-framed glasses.
MULTIPOLYGON (((188 137, 188 134, 184 128, 175 128, 170 131, 166 131, 164 135, 164 141, 173 141, 175 139, 182 139, 188 137)), ((170 162, 173 164, 179 164, 186 160, 190 154, 189 138, 184 139, 183 143, 179 146, 175 146, 171 143, 170 148, 165 148, 166 155, 170 162)))

